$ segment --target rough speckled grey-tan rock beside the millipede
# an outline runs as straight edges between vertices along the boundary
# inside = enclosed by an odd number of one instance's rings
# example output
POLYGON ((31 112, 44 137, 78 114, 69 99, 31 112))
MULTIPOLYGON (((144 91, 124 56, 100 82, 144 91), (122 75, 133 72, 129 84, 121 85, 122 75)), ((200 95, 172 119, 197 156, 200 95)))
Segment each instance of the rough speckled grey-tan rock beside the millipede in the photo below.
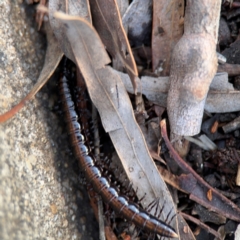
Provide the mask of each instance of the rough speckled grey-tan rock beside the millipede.
MULTIPOLYGON (((22 0, 1 0, 0 18, 2 114, 36 82, 46 40, 36 30, 34 7, 22 0)), ((0 124, 2 240, 98 239, 85 186, 74 171, 77 163, 67 154, 66 131, 52 110, 54 88, 53 78, 16 116, 0 124)))

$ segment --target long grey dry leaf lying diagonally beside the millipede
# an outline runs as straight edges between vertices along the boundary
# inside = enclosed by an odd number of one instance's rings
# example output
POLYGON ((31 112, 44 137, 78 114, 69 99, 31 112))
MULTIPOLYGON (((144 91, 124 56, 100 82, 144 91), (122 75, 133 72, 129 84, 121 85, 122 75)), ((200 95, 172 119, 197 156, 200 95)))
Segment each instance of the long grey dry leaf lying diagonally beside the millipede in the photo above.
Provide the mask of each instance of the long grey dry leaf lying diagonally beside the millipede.
MULTIPOLYGON (((90 97, 100 113, 103 126, 112 139, 130 181, 135 189, 138 188, 138 197, 147 194, 143 206, 146 207, 159 198, 160 207, 164 204, 161 219, 166 220, 169 213, 168 219, 171 219, 175 215, 172 198, 147 150, 125 87, 113 69, 106 66, 110 59, 100 38, 82 18, 62 13, 56 13, 55 17, 65 26, 90 97)), ((177 229, 175 219, 171 226, 177 229)))

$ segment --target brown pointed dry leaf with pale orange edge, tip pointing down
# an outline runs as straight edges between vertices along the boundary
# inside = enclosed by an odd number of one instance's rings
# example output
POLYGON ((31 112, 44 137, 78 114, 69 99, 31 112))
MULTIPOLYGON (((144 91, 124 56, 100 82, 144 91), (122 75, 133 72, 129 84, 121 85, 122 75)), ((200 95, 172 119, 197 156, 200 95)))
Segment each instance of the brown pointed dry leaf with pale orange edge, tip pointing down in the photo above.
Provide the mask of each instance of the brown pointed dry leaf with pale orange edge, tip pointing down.
POLYGON ((136 93, 137 66, 115 0, 90 0, 93 25, 110 55, 126 68, 136 93))

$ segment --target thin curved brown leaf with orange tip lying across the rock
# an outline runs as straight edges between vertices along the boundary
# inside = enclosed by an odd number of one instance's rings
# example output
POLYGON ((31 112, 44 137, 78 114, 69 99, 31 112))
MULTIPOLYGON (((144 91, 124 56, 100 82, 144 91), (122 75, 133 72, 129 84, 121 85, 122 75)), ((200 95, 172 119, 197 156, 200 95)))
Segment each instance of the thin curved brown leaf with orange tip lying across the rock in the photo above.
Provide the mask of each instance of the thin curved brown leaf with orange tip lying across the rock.
POLYGON ((48 40, 48 48, 45 56, 44 66, 40 73, 40 76, 38 77, 37 83, 32 88, 30 93, 21 100, 20 103, 18 103, 8 112, 0 115, 0 123, 9 120, 16 113, 18 113, 29 100, 34 98, 36 93, 45 85, 51 75, 55 72, 60 60, 62 59, 63 53, 56 44, 56 39, 52 33, 52 30, 50 29, 49 24, 46 24, 45 26, 48 40))

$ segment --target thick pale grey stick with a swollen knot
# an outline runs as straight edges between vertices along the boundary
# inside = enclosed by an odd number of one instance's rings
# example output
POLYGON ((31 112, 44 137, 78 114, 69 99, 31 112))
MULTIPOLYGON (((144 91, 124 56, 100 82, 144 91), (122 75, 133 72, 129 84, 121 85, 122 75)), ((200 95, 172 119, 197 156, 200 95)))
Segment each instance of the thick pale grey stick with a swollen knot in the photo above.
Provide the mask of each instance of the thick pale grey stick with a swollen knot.
POLYGON ((184 35, 176 44, 170 70, 168 115, 171 131, 200 131, 209 85, 217 70, 216 43, 221 0, 187 0, 184 35))

